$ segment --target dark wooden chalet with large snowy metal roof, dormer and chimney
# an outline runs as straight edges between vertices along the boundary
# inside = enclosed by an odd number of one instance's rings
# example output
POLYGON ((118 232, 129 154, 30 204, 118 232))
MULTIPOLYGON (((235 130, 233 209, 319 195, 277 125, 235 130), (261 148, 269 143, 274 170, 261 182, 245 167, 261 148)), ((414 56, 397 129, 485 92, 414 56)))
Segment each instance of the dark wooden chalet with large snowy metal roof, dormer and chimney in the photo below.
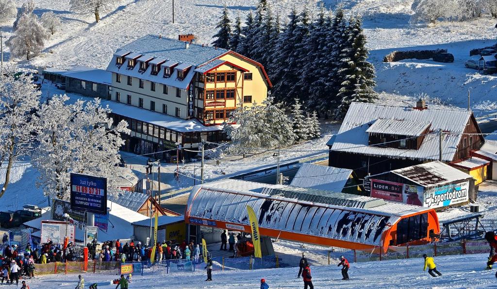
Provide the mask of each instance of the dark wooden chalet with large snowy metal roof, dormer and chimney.
POLYGON ((479 133, 468 110, 427 108, 421 99, 415 107, 353 102, 328 142, 329 165, 364 178, 440 160, 468 172, 478 184, 490 164, 473 156, 485 142, 479 133))

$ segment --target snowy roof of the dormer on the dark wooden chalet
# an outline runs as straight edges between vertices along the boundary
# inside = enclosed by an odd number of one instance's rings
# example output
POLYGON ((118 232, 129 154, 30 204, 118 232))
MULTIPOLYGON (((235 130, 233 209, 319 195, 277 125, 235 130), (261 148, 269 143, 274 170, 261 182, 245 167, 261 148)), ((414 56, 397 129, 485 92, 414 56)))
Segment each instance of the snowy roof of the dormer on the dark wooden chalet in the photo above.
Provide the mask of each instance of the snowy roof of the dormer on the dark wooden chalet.
POLYGON ((396 134, 406 136, 420 136, 430 125, 427 121, 413 121, 408 119, 380 118, 366 129, 368 133, 396 134))

